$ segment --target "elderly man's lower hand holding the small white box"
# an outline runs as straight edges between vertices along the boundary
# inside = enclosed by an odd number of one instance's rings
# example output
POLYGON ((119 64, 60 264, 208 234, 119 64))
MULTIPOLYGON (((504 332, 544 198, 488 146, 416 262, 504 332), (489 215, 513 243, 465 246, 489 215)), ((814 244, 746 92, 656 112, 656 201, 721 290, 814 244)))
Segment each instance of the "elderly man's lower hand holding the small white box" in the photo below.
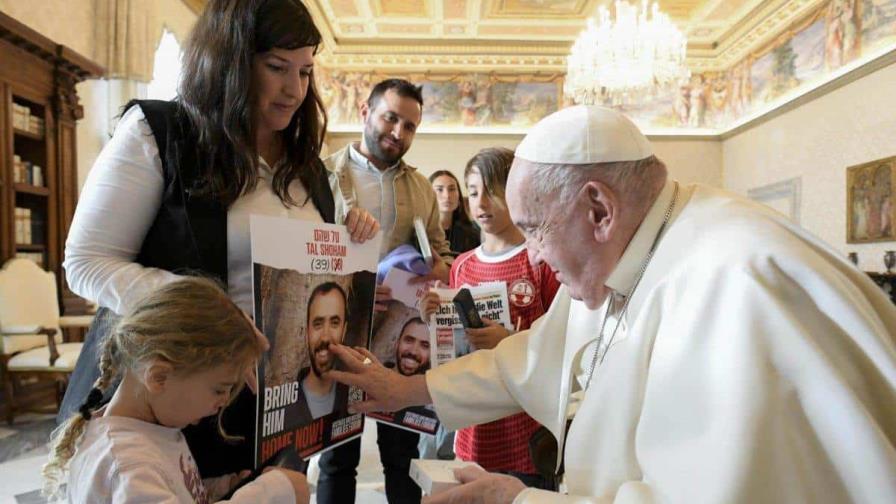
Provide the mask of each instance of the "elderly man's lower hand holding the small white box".
POLYGON ((485 472, 478 467, 455 469, 454 477, 463 484, 424 497, 423 504, 510 504, 526 489, 513 476, 485 472))

